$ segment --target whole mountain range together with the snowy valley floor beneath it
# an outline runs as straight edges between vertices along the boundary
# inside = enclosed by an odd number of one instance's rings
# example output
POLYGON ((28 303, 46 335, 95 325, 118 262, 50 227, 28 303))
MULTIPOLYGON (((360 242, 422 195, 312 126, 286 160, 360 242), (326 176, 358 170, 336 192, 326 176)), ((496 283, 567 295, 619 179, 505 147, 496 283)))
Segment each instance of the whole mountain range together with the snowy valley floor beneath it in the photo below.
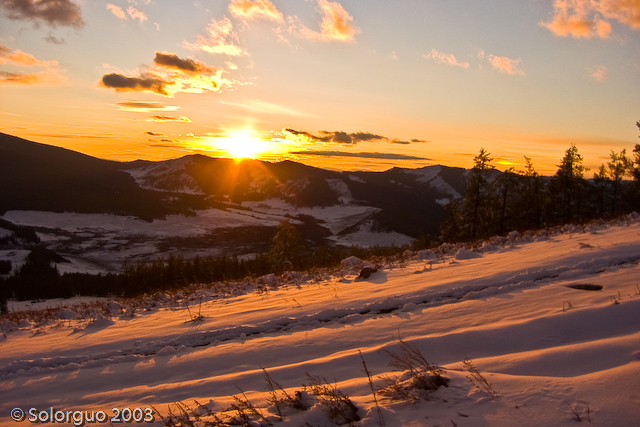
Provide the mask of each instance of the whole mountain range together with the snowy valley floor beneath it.
POLYGON ((167 254, 261 252, 285 218, 308 247, 403 245, 437 235, 466 175, 445 166, 338 172, 203 155, 115 162, 0 134, 0 217, 106 270, 167 254))

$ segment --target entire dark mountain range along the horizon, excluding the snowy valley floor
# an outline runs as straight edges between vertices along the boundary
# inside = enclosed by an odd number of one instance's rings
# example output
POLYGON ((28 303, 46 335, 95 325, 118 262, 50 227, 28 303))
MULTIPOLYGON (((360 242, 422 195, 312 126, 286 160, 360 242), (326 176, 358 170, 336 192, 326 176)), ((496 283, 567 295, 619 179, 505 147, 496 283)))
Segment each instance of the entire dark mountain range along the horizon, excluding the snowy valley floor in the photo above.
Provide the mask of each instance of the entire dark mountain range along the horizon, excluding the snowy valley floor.
POLYGON ((301 208, 371 206, 375 213, 366 222, 374 231, 435 236, 444 206, 461 197, 465 180, 464 169, 444 166, 336 172, 291 161, 203 155, 123 163, 0 134, 0 213, 68 211, 152 220, 278 198, 301 208))

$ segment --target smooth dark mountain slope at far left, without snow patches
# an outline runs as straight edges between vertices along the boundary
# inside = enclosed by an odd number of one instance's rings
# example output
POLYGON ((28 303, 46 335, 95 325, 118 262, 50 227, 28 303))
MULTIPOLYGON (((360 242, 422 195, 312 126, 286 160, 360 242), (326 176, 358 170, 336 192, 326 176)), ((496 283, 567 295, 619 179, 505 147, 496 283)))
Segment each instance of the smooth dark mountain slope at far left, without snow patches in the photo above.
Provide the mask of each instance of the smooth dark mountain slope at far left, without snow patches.
POLYGON ((122 164, 0 133, 0 212, 106 212, 151 220, 171 208, 122 164))

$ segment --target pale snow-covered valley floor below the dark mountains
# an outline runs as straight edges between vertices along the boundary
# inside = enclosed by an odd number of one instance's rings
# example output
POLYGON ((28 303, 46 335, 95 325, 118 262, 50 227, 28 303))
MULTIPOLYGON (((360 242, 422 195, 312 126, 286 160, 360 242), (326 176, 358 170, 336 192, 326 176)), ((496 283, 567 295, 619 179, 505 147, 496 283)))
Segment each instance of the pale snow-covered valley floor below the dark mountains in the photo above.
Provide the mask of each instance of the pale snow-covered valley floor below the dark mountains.
MULTIPOLYGON (((340 192, 343 202, 351 200, 344 182, 334 180, 330 184, 340 192)), ((373 231, 370 218, 377 211, 378 208, 356 204, 300 208, 274 198, 230 204, 226 209, 198 210, 190 216, 167 215, 165 219, 153 222, 110 214, 18 210, 8 211, 1 218, 17 225, 35 227, 43 243, 71 261, 58 265, 61 273, 96 274, 117 271, 124 260, 148 261, 167 255, 167 252, 174 253, 173 238, 206 237, 221 228, 277 227, 283 219, 291 217, 293 223, 300 223, 295 219, 298 215, 316 218, 333 233, 328 240, 335 244, 371 247, 411 243, 412 238, 400 233, 373 231), (163 244, 166 241, 169 244, 163 244)), ((192 258, 196 254, 218 256, 222 253, 219 248, 205 247, 184 251, 182 255, 192 258)))

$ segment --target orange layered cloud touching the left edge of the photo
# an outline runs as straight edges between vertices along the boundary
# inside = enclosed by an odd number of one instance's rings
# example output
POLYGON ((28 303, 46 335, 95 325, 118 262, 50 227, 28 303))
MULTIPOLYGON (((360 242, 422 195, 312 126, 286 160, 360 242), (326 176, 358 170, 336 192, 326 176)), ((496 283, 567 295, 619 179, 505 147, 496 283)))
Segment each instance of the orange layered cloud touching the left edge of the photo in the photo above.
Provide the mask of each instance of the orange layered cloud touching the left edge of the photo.
POLYGON ((57 61, 40 61, 33 55, 21 50, 12 51, 0 45, 0 64, 11 64, 18 67, 43 67, 44 70, 33 72, 0 70, 0 84, 46 84, 53 85, 64 81, 57 61))

